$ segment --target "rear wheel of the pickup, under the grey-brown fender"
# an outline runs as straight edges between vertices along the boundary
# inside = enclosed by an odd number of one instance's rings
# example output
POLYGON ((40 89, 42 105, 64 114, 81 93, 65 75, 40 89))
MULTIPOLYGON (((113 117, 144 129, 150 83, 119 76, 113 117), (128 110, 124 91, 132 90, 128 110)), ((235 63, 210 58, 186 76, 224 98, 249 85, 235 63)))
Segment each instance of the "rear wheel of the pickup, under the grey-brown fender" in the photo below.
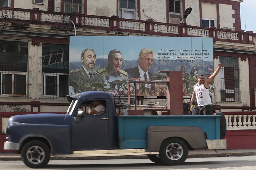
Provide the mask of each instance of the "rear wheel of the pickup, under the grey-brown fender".
POLYGON ((171 138, 162 143, 159 154, 164 164, 180 165, 187 159, 188 147, 182 139, 171 138))

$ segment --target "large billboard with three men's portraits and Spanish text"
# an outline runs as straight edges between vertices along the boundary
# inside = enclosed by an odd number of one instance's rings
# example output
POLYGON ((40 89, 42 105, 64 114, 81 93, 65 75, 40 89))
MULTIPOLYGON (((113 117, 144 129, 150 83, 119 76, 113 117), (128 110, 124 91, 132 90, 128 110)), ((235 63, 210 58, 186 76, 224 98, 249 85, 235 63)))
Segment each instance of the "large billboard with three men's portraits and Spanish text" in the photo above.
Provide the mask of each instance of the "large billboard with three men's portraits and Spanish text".
MULTIPOLYGON (((166 96, 166 85, 157 83, 166 75, 158 71, 182 71, 183 96, 191 96, 197 75, 208 78, 214 71, 213 39, 71 36, 69 62, 70 94, 97 90, 125 96, 131 80, 155 82, 136 84, 139 96, 166 96)), ((213 83, 209 91, 214 94, 213 83)))

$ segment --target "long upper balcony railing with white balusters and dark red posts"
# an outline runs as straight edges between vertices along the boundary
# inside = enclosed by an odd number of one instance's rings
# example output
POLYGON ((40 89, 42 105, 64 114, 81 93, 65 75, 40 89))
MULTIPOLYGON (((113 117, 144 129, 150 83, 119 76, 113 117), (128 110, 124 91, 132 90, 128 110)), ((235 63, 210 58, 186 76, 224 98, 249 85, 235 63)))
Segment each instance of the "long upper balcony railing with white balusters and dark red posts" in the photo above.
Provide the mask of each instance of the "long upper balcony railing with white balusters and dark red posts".
MULTIPOLYGON (((62 13, 41 10, 29 10, 20 8, 0 7, 0 16, 9 18, 9 22, 42 22, 62 23, 62 27, 69 27, 67 23, 72 20, 76 25, 85 29, 103 29, 106 31, 139 33, 157 36, 171 37, 212 37, 214 41, 227 41, 243 44, 255 44, 252 31, 232 31, 216 29, 216 27, 205 28, 186 24, 168 24, 153 22, 152 20, 130 20, 105 16, 84 15, 77 12, 62 13), (67 24, 67 25, 65 25, 67 24)), ((119 33, 117 35, 123 35, 119 33)), ((79 35, 79 33, 78 33, 79 35)))

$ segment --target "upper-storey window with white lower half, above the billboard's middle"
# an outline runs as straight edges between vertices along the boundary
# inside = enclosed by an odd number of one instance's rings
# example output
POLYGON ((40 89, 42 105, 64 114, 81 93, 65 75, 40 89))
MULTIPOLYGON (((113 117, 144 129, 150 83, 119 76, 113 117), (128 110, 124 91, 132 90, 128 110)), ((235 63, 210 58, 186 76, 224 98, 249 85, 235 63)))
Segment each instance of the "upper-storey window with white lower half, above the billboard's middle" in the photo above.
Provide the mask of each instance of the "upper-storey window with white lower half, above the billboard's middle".
POLYGON ((135 0, 120 0, 120 18, 135 19, 135 0))

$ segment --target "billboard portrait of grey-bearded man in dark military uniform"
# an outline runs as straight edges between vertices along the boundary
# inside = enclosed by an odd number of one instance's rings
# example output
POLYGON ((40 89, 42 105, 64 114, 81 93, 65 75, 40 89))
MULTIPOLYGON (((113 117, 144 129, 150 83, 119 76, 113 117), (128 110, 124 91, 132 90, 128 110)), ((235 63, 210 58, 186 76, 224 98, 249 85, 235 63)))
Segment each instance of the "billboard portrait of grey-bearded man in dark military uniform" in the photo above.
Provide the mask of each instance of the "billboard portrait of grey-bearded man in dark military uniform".
POLYGON ((103 80, 102 75, 96 70, 96 54, 93 49, 86 48, 81 53, 81 62, 83 66, 80 69, 72 70, 69 73, 70 79, 78 81, 82 80, 103 80))

